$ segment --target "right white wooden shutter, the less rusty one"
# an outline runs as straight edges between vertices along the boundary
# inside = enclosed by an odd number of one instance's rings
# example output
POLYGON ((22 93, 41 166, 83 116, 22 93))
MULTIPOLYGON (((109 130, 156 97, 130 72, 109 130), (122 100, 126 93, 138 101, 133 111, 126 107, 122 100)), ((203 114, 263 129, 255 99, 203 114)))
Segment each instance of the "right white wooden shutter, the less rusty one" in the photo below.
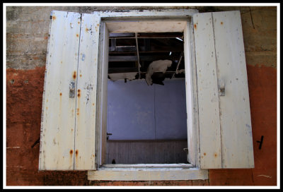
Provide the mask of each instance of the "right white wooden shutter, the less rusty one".
POLYGON ((193 24, 200 167, 254 167, 241 14, 197 13, 193 24))

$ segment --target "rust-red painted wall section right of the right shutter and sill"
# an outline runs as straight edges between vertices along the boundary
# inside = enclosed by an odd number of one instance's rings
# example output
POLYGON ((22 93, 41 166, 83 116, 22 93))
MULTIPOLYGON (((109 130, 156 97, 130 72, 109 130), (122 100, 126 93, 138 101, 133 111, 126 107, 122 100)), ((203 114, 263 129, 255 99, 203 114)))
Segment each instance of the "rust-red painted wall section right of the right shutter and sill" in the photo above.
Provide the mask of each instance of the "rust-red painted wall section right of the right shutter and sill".
POLYGON ((255 168, 211 169, 209 184, 213 186, 277 184, 277 71, 266 66, 247 67, 255 168), (260 149, 257 141, 261 136, 260 149))

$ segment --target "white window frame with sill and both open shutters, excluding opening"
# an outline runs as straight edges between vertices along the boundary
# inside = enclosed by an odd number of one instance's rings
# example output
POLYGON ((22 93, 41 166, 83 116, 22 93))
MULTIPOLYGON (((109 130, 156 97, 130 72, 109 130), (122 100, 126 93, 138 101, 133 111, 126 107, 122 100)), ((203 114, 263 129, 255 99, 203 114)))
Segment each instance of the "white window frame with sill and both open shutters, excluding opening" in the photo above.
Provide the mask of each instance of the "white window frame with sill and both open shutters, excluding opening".
POLYGON ((207 169, 254 166, 239 11, 52 11, 46 68, 40 170, 90 170, 88 179, 100 180, 183 180, 207 179, 207 169), (109 33, 125 32, 183 32, 190 167, 103 167, 109 33))

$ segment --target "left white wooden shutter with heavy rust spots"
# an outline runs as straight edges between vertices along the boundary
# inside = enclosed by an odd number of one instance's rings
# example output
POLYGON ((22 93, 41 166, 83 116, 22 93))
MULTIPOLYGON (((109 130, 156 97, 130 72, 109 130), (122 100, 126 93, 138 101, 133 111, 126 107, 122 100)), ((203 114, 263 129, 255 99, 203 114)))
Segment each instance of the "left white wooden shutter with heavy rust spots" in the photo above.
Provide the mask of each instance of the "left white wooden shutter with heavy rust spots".
POLYGON ((99 26, 90 14, 52 11, 50 18, 39 169, 95 169, 99 26))

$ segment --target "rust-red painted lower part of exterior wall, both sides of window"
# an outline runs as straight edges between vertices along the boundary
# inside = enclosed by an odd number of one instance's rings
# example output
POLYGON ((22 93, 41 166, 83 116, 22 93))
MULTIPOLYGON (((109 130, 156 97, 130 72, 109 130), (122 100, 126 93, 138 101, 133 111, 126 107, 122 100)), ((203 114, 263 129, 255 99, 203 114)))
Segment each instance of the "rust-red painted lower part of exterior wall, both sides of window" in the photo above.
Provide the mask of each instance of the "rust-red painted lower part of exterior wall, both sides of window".
MULTIPOLYGON (((277 70, 248 66, 254 169, 211 169, 209 181, 91 182, 96 185, 276 185, 277 70), (259 149, 261 136, 264 136, 259 149)), ((38 172, 40 116, 45 67, 6 70, 7 185, 86 185, 86 172, 38 172), (18 147, 18 148, 13 148, 18 147)))

